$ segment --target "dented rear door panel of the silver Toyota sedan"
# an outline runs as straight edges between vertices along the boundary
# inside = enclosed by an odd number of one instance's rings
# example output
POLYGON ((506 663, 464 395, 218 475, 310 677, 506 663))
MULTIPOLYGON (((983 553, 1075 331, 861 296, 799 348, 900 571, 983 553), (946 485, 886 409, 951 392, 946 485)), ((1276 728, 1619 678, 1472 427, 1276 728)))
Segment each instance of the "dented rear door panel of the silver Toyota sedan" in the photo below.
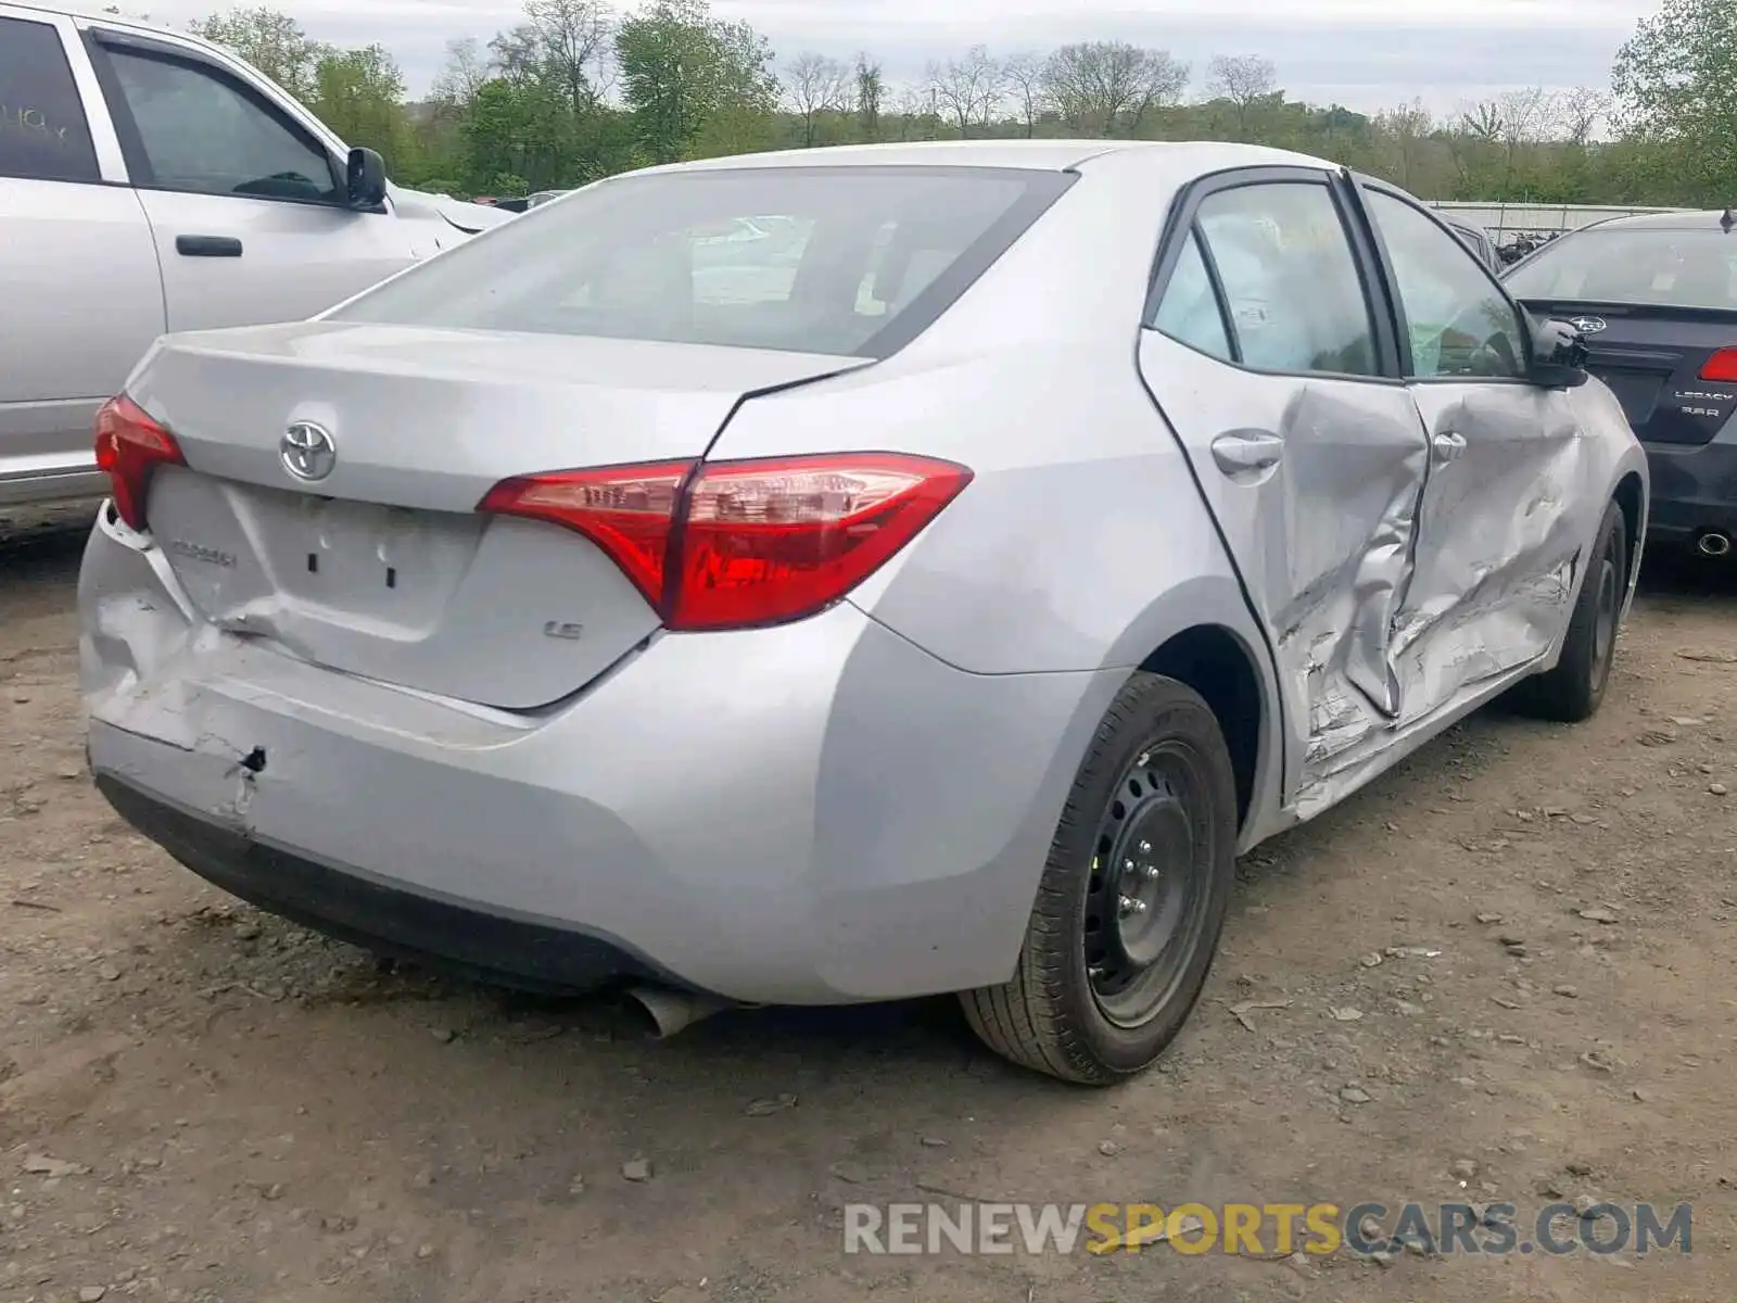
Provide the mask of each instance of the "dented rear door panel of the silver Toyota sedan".
POLYGON ((1259 375, 1157 332, 1139 358, 1273 639, 1285 789, 1311 787, 1403 711, 1391 629, 1428 462, 1417 408, 1398 384, 1259 375), (1263 443, 1271 466, 1237 464, 1263 443))

